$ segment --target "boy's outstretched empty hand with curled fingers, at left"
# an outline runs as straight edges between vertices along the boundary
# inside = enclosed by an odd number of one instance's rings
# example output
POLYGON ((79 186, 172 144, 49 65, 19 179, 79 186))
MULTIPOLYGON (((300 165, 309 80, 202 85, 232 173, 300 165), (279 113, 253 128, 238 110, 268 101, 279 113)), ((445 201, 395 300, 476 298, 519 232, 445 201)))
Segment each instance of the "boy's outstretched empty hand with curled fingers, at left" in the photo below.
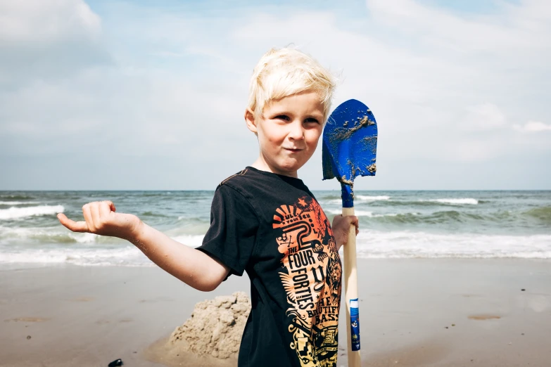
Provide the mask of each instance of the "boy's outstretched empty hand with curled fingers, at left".
POLYGON ((132 238, 141 224, 140 219, 134 214, 115 213, 115 205, 108 200, 85 204, 82 214, 85 221, 72 221, 63 213, 58 213, 58 219, 73 232, 95 233, 125 240, 132 238))

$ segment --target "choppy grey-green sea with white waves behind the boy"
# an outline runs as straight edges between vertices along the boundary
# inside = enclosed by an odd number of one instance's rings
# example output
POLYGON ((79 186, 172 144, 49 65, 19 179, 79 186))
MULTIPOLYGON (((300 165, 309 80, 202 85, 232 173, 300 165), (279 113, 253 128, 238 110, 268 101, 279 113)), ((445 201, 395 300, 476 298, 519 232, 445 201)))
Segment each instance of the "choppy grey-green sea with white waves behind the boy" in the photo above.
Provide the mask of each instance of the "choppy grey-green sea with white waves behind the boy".
MULTIPOLYGON (((329 219, 340 191, 313 192, 329 219)), ((155 266, 119 238, 73 233, 63 212, 111 200, 187 246, 201 245, 213 191, 0 191, 0 264, 155 266)), ((551 191, 357 191, 357 256, 385 258, 551 258, 551 191)))

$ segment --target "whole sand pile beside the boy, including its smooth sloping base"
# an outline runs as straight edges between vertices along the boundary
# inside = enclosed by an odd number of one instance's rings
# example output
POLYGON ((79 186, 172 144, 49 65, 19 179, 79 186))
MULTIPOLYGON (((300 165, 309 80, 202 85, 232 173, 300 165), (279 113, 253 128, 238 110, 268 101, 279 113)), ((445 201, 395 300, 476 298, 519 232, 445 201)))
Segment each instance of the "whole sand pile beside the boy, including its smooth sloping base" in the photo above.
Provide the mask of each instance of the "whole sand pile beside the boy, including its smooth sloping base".
POLYGON ((198 302, 184 325, 146 350, 146 358, 171 367, 237 366, 249 312, 251 300, 245 292, 198 302))

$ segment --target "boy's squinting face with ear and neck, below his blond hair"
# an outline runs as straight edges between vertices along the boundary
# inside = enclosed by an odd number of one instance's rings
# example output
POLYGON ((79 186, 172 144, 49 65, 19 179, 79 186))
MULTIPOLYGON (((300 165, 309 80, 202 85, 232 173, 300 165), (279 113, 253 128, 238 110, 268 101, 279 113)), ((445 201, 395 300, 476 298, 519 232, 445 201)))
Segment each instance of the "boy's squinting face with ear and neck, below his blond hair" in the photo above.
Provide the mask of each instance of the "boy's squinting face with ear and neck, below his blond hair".
POLYGON ((296 177, 316 150, 323 130, 323 112, 319 95, 312 91, 271 101, 256 119, 247 110, 247 126, 258 135, 260 145, 260 157, 253 166, 296 177))

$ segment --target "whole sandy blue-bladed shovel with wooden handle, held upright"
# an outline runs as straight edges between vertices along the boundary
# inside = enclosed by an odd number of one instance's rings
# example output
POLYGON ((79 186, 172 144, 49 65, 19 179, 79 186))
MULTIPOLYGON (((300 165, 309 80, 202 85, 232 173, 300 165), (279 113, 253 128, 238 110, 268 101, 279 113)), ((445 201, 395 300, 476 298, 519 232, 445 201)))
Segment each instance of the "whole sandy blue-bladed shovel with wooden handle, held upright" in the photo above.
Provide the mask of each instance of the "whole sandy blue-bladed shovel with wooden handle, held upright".
MULTIPOLYGON (((323 179, 341 183, 343 215, 354 215, 356 176, 375 176, 377 124, 367 105, 350 99, 331 113, 323 132, 323 179)), ((360 367, 360 314, 357 297, 356 232, 350 227, 344 246, 344 289, 348 366, 360 367)))

